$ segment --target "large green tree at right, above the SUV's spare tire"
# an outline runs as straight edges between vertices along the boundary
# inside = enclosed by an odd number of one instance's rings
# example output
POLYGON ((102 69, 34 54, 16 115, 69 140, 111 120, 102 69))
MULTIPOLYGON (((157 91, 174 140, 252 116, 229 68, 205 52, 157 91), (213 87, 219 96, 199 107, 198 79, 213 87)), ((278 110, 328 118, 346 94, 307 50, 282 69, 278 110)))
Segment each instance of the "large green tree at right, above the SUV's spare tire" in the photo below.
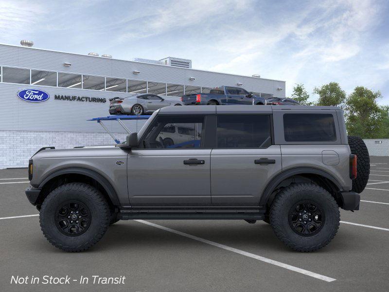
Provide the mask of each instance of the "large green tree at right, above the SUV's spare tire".
POLYGON ((377 99, 381 97, 380 91, 355 87, 346 100, 346 127, 349 135, 364 139, 386 135, 384 124, 388 119, 388 109, 377 104, 377 99))

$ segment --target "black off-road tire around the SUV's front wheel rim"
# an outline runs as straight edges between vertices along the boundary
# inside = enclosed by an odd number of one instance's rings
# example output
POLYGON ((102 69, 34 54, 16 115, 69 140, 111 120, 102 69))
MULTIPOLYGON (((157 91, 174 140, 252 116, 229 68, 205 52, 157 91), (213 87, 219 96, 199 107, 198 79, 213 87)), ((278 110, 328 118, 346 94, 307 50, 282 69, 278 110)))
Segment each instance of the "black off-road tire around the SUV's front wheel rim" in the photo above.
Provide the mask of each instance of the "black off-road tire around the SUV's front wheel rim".
POLYGON ((67 252, 85 251, 96 244, 106 233, 110 211, 104 196, 87 183, 67 183, 54 189, 43 201, 39 214, 40 228, 53 246, 67 252), (78 236, 67 236, 56 226, 58 208, 66 201, 85 204, 90 211, 90 225, 78 236))

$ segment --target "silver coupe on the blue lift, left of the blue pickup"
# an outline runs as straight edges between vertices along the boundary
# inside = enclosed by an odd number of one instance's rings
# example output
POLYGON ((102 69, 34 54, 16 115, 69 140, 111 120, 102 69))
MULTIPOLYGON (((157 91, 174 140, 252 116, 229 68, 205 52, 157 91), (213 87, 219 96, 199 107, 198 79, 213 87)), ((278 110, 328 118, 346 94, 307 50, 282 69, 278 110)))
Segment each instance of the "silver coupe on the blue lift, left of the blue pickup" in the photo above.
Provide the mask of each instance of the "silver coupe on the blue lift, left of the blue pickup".
POLYGON ((182 106, 179 100, 165 99, 156 94, 138 93, 109 99, 109 114, 151 114, 168 106, 182 106))

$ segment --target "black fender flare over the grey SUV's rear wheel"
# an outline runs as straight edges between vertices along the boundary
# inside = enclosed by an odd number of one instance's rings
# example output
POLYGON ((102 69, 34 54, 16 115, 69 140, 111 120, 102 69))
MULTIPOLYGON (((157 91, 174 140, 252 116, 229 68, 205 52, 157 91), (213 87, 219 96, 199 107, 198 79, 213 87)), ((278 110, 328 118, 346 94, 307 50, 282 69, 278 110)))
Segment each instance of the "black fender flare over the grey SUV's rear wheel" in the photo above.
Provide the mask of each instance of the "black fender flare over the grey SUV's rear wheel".
POLYGON ((279 173, 278 175, 276 175, 270 181, 270 183, 268 183, 266 185, 265 190, 262 193, 262 197, 261 197, 261 200, 259 202, 259 205, 265 206, 267 201, 269 200, 271 194, 273 193, 274 189, 277 187, 277 185, 282 183, 287 178, 290 178, 290 177, 292 177, 294 175, 298 175, 298 174, 317 174, 317 175, 320 175, 320 176, 330 180, 332 183, 334 183, 336 185, 336 187, 338 188, 338 190, 342 190, 340 183, 334 178, 334 176, 332 176, 328 172, 325 172, 324 170, 314 168, 314 167, 290 168, 290 169, 287 169, 287 170, 279 173))

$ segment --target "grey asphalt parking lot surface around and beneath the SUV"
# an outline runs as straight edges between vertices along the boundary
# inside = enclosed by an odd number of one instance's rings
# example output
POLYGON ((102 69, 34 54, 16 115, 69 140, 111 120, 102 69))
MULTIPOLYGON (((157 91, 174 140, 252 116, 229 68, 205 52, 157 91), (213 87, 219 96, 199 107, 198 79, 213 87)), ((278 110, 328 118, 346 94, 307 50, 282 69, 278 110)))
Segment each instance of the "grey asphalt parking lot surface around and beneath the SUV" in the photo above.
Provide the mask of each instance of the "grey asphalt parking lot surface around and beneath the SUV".
POLYGON ((265 222, 243 220, 119 221, 87 252, 62 252, 37 216, 25 217, 38 214, 24 194, 26 174, 0 170, 0 291, 389 290, 389 157, 371 157, 360 210, 341 210, 334 240, 308 254, 288 249, 265 222), (11 284, 26 275, 89 282, 11 284), (92 284, 92 275, 125 280, 92 284))

